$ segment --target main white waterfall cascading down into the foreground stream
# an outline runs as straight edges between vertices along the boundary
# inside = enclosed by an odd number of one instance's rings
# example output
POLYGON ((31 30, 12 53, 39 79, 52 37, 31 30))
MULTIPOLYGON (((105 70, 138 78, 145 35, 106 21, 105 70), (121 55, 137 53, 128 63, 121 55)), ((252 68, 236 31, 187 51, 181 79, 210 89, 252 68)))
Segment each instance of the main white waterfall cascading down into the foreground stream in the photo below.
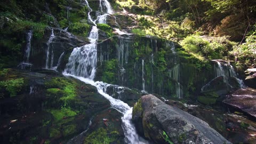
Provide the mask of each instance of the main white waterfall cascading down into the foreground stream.
MULTIPOLYGON (((92 9, 89 3, 85 0, 86 5, 89 7, 90 12, 92 9)), ((102 1, 102 5, 106 7, 108 13, 113 13, 111 6, 107 0, 102 1)), ((101 8, 100 8, 101 9, 101 8)), ((90 15, 90 12, 88 15, 90 15)), ((97 41, 98 41, 98 28, 96 22, 89 17, 89 20, 95 25, 92 27, 89 39, 91 44, 87 44, 81 47, 76 47, 69 57, 66 69, 63 75, 72 76, 81 80, 84 83, 91 84, 97 87, 98 92, 108 99, 111 106, 117 109, 123 114, 122 122, 125 133, 126 143, 145 143, 137 134, 134 125, 131 122, 132 108, 121 100, 110 97, 107 93, 107 87, 109 84, 103 82, 94 82, 96 66, 97 66, 97 41)), ((101 21, 105 22, 105 20, 101 21)), ((122 58, 123 59, 123 58, 122 58)), ((123 60, 122 60, 123 63, 123 60)))

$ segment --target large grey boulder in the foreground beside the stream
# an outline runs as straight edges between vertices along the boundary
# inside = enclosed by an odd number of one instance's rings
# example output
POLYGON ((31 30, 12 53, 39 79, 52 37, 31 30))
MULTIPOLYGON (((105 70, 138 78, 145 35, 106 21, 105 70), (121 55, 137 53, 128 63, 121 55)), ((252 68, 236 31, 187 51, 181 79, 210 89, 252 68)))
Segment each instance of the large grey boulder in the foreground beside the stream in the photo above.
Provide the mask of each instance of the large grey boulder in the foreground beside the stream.
POLYGON ((201 119, 166 105, 154 95, 141 97, 141 107, 145 137, 156 143, 230 143, 201 119))

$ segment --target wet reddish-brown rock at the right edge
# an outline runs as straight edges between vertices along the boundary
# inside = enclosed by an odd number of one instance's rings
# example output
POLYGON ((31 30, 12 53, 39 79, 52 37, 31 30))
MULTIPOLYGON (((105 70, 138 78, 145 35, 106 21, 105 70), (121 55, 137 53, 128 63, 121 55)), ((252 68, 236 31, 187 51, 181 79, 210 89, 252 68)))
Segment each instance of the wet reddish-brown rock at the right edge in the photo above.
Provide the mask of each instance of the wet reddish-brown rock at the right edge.
POLYGON ((239 89, 223 100, 231 108, 236 108, 243 113, 256 119, 256 90, 255 89, 239 89))

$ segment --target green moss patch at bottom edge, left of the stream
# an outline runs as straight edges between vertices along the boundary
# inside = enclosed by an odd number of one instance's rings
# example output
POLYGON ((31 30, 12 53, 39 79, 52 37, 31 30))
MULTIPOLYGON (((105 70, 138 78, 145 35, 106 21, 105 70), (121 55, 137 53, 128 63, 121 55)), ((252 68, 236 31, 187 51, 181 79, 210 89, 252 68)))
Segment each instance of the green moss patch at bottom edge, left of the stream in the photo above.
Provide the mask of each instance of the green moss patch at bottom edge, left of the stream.
POLYGON ((92 132, 88 137, 85 138, 84 144, 109 144, 115 141, 116 133, 107 133, 106 129, 100 127, 97 131, 92 132))

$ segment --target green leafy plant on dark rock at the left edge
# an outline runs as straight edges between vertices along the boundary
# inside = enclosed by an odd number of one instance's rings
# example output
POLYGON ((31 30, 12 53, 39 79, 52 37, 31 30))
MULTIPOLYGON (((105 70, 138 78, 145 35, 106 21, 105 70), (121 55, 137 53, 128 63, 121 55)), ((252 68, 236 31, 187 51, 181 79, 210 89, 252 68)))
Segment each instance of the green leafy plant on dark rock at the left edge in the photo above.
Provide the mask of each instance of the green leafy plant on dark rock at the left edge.
POLYGON ((6 89, 6 91, 9 92, 11 97, 16 96, 17 92, 21 91, 23 84, 23 78, 10 79, 8 81, 0 82, 0 86, 3 86, 6 89))

